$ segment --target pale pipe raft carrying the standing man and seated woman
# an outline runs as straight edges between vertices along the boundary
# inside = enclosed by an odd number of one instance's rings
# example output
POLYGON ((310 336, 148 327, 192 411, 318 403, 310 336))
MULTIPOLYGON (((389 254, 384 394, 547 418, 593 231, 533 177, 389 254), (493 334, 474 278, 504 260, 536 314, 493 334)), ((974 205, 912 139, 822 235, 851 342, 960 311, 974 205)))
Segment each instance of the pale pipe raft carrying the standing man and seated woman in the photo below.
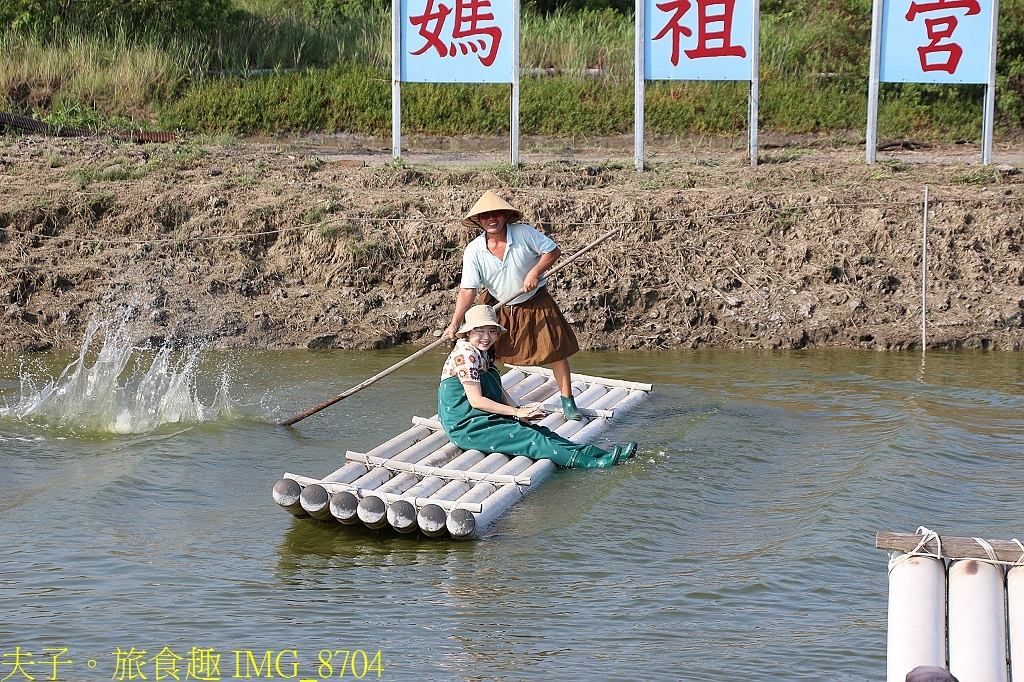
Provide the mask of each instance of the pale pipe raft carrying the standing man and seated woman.
MULTIPOLYGON (((652 389, 573 374, 572 392, 584 419, 567 422, 550 370, 510 367, 502 384, 520 403, 539 402, 550 413, 540 424, 578 442, 588 442, 652 389)), ((286 472, 274 483, 274 502, 299 518, 390 526, 428 538, 479 538, 556 468, 550 460, 462 451, 447 439, 437 415, 414 417, 409 430, 368 453, 348 452, 345 459, 323 478, 286 472)))

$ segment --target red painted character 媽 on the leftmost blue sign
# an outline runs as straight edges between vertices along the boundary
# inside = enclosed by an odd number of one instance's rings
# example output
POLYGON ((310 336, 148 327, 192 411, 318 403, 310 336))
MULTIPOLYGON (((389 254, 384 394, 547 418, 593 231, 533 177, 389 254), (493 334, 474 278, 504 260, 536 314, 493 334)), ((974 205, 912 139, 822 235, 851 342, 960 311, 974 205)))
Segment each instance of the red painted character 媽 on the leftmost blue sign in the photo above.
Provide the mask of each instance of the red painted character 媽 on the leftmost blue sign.
POLYGON ((438 56, 457 56, 473 52, 480 63, 489 67, 498 56, 498 45, 502 41, 502 30, 497 26, 483 26, 494 22, 490 11, 490 0, 455 0, 455 25, 452 30, 452 42, 445 44, 441 38, 444 24, 452 7, 438 3, 434 9, 434 0, 427 0, 423 13, 410 16, 409 22, 419 27, 419 34, 426 41, 419 50, 411 52, 420 55, 433 48, 438 56))

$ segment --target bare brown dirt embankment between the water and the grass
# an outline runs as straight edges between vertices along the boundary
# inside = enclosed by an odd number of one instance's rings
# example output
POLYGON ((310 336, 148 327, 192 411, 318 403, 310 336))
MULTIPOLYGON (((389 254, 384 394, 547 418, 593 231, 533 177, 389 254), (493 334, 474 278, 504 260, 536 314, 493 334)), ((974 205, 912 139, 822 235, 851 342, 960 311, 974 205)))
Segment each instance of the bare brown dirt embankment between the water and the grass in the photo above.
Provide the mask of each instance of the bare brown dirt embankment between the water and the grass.
POLYGON ((0 339, 77 348, 94 312, 132 302, 153 344, 432 340, 473 237, 459 218, 494 188, 566 256, 621 227, 551 285, 585 348, 915 348, 927 185, 929 347, 1024 347, 1016 165, 763 154, 753 169, 725 150, 638 173, 628 152, 516 170, 310 144, 4 138, 0 339))

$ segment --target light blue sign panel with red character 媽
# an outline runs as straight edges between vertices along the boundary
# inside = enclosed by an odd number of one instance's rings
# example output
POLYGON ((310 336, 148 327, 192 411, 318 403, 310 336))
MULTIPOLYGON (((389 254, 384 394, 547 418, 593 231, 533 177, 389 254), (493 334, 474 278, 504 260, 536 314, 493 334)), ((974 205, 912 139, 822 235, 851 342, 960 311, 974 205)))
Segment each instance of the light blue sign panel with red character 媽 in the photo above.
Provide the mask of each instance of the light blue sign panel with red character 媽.
POLYGON ((401 0, 401 80, 511 83, 509 0, 401 0))

